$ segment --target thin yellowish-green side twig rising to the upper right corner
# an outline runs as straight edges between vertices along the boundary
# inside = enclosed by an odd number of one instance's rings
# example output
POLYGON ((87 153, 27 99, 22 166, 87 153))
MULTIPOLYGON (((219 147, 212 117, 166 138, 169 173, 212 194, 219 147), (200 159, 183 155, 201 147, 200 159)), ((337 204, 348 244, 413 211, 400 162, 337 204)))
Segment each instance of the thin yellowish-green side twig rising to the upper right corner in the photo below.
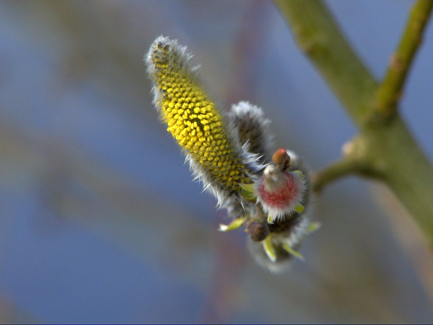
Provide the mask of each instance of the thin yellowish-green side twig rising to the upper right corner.
POLYGON ((388 71, 377 93, 378 113, 391 116, 401 97, 401 88, 410 63, 422 42, 422 36, 433 7, 432 0, 418 0, 413 6, 400 45, 391 56, 388 71))

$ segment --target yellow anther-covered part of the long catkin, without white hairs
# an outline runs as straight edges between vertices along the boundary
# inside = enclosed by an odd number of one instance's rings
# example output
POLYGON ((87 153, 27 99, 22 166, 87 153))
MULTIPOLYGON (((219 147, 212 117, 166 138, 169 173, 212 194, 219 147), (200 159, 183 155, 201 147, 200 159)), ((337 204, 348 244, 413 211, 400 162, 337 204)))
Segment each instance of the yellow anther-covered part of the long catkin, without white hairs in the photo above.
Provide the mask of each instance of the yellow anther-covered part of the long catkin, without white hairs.
POLYGON ((156 85, 162 91, 158 103, 167 131, 200 164, 214 185, 230 192, 250 183, 239 153, 231 146, 221 116, 197 84, 186 63, 171 45, 152 49, 156 85))

